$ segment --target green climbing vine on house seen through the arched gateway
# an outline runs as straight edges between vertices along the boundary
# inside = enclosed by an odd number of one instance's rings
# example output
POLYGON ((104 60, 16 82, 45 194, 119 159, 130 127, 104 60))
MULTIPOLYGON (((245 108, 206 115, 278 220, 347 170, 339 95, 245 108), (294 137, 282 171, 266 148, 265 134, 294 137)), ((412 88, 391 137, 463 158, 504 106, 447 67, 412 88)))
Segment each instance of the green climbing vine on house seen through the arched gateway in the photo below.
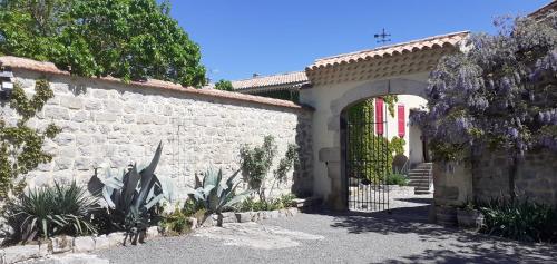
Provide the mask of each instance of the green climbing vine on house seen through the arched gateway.
MULTIPOLYGON (((389 115, 394 117, 394 105, 398 97, 389 95, 382 99, 389 115)), ((351 139, 349 144, 351 146, 348 146, 349 159, 358 160, 351 163, 354 166, 352 170, 362 178, 381 182, 385 175, 392 172, 394 155, 404 153, 405 140, 397 136, 389 140, 387 137, 375 135, 373 99, 367 99, 352 106, 348 110, 348 118, 351 124, 356 124, 350 128, 351 139), (384 166, 371 167, 367 164, 371 160, 382 160, 384 166)))

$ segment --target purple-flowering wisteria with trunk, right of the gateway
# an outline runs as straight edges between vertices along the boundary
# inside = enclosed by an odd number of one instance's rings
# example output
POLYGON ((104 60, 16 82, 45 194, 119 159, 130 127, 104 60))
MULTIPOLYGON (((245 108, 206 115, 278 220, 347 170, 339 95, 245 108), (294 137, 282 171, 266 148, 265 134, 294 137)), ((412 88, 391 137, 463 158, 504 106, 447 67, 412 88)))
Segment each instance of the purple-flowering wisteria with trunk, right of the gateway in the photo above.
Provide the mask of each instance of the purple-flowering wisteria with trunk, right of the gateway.
POLYGON ((467 162, 483 150, 509 154, 509 187, 526 151, 557 150, 557 19, 504 19, 497 35, 472 35, 467 51, 431 72, 428 111, 412 120, 433 158, 467 162))

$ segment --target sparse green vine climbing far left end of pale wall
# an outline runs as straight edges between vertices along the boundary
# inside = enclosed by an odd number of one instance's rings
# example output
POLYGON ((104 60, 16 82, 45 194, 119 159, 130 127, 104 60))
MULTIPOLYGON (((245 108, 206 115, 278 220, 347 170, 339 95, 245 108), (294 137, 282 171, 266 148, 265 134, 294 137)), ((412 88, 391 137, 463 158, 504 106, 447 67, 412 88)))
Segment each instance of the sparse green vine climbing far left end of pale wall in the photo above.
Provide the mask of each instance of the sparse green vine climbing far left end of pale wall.
POLYGON ((60 129, 53 124, 39 130, 28 126, 28 121, 39 113, 48 99, 55 95, 47 80, 35 84, 35 95, 28 98, 20 84, 14 84, 9 107, 19 114, 18 120, 0 117, 0 197, 10 192, 18 193, 25 187, 20 175, 48 163, 52 156, 42 150, 46 138, 53 138, 60 129))

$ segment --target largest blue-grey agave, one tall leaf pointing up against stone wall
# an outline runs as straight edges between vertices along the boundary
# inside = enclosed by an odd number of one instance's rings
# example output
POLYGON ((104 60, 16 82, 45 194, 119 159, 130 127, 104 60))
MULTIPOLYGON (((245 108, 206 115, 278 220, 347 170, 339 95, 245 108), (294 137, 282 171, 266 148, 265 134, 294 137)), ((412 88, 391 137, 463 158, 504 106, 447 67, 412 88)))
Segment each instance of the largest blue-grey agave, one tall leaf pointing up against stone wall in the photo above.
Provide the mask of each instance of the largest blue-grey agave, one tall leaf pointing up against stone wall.
POLYGON ((153 208, 165 196, 160 180, 155 175, 163 144, 159 143, 150 164, 138 169, 133 164, 121 177, 111 176, 100 179, 104 184, 102 197, 105 198, 113 224, 118 229, 124 229, 133 243, 138 235, 145 234, 153 221, 153 208))

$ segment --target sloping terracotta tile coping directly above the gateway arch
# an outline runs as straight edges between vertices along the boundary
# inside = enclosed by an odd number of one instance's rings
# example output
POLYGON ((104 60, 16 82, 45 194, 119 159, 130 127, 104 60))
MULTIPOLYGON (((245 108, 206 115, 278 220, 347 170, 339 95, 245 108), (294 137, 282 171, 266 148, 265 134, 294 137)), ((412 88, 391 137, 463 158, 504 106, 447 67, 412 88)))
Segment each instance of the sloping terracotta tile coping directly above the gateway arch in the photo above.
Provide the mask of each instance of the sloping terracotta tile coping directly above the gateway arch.
POLYGON ((338 55, 323 59, 317 59, 306 68, 306 70, 315 70, 328 68, 336 65, 345 65, 364 60, 378 59, 393 55, 409 53, 419 50, 433 48, 443 48, 447 46, 457 46, 462 39, 469 35, 468 31, 453 32, 448 35, 434 36, 409 42, 397 43, 392 46, 379 47, 370 50, 362 50, 352 53, 338 55))

